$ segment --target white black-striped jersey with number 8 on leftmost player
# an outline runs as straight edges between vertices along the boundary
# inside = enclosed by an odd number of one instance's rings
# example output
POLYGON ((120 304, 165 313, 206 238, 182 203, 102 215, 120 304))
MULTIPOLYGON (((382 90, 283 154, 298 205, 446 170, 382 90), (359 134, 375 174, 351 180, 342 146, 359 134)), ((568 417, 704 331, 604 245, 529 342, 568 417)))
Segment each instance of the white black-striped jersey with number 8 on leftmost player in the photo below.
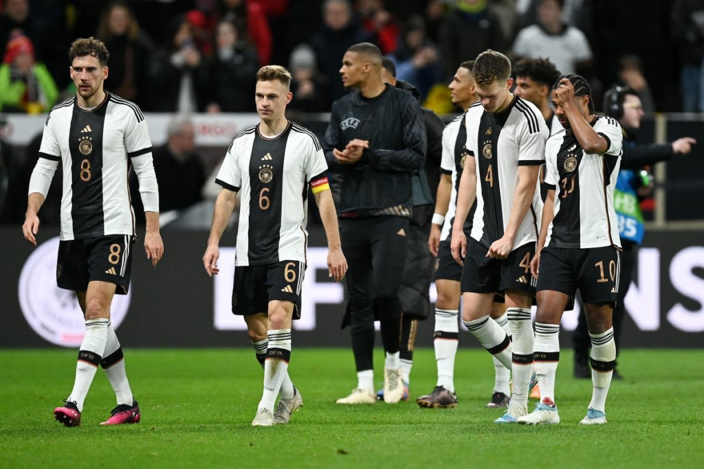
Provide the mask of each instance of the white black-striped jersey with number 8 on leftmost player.
POLYGON ((130 167, 139 160, 153 176, 149 130, 136 104, 106 94, 92 110, 80 108, 75 97, 56 105, 44 124, 39 157, 63 169, 61 240, 134 235, 130 167))

